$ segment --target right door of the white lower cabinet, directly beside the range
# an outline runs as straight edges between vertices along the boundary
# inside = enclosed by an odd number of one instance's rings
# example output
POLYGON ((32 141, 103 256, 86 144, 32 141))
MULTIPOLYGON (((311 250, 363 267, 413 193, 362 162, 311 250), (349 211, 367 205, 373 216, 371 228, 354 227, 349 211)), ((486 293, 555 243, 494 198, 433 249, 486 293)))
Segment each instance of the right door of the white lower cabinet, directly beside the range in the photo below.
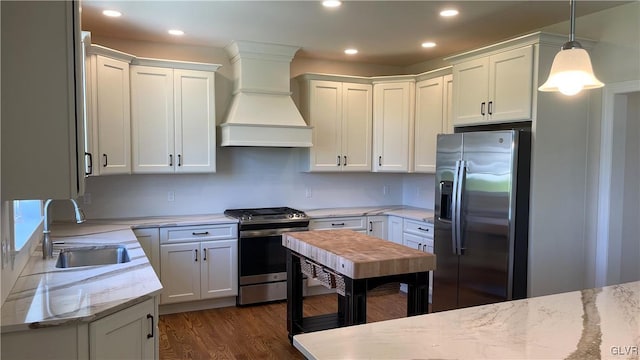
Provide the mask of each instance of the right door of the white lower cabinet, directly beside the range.
POLYGON ((238 295, 238 240, 201 244, 202 299, 238 295))

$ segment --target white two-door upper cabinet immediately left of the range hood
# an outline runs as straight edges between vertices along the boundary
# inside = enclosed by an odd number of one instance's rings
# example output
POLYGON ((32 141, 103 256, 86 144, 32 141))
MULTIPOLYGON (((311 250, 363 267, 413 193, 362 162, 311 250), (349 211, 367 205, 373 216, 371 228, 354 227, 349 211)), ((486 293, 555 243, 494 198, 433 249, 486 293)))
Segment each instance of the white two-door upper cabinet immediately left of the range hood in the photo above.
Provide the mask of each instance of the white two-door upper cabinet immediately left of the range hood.
POLYGON ((131 66, 134 173, 215 172, 213 71, 131 66))

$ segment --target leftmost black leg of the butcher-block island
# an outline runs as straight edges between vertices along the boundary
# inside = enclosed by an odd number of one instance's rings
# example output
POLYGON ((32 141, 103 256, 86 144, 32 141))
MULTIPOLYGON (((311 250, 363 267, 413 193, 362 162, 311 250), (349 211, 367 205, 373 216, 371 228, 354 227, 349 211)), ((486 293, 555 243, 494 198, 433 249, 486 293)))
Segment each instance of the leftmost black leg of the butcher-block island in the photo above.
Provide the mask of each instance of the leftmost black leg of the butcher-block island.
POLYGON ((289 341, 300 333, 302 323, 302 271, 300 258, 287 249, 287 331, 289 341))

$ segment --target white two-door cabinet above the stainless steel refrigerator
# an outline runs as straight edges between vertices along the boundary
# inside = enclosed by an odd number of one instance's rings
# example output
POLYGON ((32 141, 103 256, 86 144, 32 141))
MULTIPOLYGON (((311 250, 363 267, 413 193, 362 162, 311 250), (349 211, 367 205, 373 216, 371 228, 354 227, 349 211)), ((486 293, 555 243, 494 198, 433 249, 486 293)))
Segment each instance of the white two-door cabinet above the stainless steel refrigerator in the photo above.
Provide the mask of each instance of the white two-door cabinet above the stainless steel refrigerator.
POLYGON ((456 126, 531 120, 533 46, 453 65, 456 126))

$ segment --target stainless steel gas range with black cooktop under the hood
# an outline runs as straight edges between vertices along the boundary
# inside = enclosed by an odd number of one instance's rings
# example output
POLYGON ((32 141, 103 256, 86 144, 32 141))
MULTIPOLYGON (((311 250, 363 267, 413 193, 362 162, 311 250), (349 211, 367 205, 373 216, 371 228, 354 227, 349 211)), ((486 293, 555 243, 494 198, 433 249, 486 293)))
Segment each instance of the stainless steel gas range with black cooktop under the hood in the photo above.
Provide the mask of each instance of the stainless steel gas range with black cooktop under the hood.
POLYGON ((288 207, 229 209, 238 223, 238 305, 287 298, 287 259, 282 233, 307 231, 307 215, 288 207))

